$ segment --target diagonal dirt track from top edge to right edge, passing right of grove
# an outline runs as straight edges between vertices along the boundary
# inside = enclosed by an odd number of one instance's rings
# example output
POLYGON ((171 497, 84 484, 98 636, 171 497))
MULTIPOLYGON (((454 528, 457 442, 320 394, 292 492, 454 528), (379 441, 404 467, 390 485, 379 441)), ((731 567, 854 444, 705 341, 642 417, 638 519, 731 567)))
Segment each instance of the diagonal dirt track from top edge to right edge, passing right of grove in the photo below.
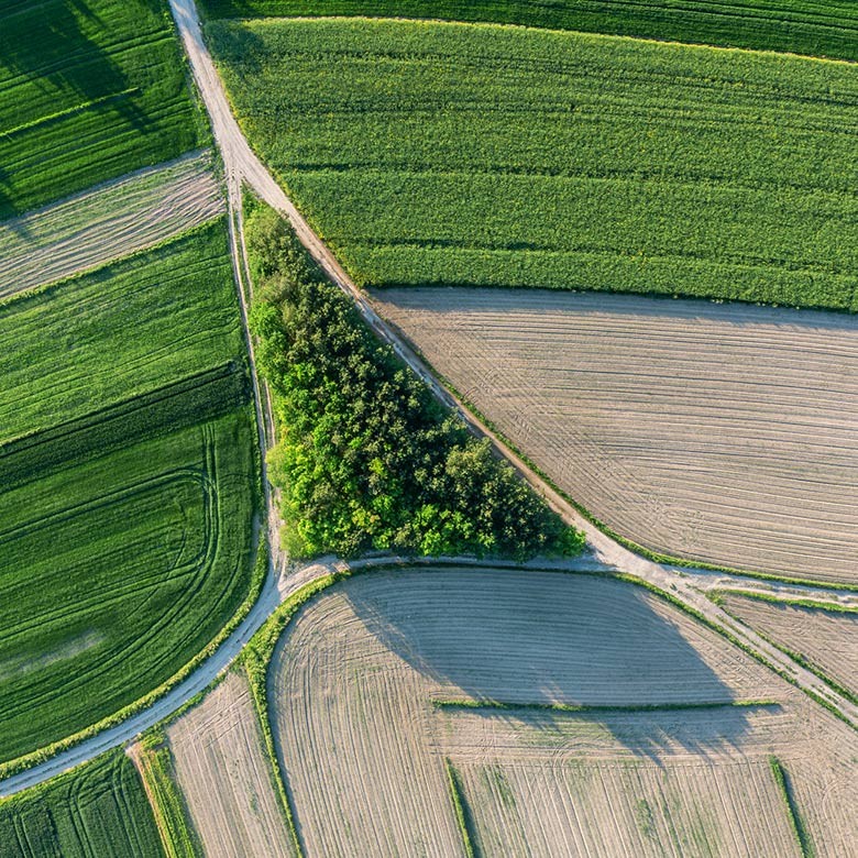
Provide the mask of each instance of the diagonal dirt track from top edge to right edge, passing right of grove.
POLYGON ((780 672, 805 692, 824 701, 839 715, 858 729, 858 706, 831 689, 818 676, 802 668, 789 656, 781 652, 761 638, 748 626, 735 620, 726 612, 711 602, 703 588, 694 583, 692 572, 680 572, 670 566, 654 563, 639 557, 614 541, 592 525, 569 504, 558 492, 548 485, 542 477, 521 460, 501 438, 487 426, 472 415, 455 396, 453 396, 431 370, 415 354, 408 344, 394 331, 373 309, 366 296, 355 286, 333 253, 321 239, 310 229, 307 221, 276 183, 268 169, 253 153, 245 140, 239 123, 230 109, 223 84, 215 68, 211 55, 202 40, 199 18, 194 0, 170 0, 173 15, 176 19, 179 34, 188 53, 190 65, 202 100, 211 118, 215 138, 223 155, 228 183, 232 188, 231 205, 240 206, 240 186, 244 180, 270 206, 285 215, 298 235, 300 242, 310 252, 316 262, 323 268, 331 280, 337 284, 354 301, 358 310, 373 330, 408 364, 432 393, 442 403, 457 411, 463 420, 479 435, 492 440, 496 449, 519 471, 525 480, 541 494, 550 506, 570 525, 583 530, 593 548, 594 556, 604 565, 622 571, 639 579, 642 583, 654 586, 680 602, 685 608, 703 617, 713 628, 727 635, 746 650, 755 654, 772 669, 780 672))

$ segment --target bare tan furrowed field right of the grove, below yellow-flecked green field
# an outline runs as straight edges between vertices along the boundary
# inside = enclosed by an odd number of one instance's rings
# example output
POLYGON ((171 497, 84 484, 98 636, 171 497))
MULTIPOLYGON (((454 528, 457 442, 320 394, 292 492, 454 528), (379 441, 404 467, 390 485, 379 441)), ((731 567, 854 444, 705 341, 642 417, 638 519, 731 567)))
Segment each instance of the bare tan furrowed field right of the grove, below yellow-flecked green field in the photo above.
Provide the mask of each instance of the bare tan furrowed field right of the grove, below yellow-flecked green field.
POLYGON ((374 297, 622 536, 695 561, 858 583, 858 317, 502 289, 374 297))

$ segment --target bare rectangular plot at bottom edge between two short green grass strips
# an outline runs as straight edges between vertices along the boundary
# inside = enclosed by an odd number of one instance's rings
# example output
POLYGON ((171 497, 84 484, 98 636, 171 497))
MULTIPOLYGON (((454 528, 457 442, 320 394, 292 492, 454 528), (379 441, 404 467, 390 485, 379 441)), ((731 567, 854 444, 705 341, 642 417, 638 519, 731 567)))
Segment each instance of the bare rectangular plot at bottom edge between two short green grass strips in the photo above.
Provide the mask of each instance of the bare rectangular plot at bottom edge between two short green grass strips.
POLYGON ((765 757, 663 770, 542 760, 459 771, 480 855, 802 858, 765 757))

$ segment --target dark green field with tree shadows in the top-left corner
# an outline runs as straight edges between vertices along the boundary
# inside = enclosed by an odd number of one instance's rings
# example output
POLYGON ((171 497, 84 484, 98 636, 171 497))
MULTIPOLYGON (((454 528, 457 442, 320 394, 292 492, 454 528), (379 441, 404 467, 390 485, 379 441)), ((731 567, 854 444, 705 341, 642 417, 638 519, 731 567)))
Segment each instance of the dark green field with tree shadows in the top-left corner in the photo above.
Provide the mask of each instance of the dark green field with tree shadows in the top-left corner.
POLYGON ((6 0, 0 220, 209 136, 165 0, 6 0))

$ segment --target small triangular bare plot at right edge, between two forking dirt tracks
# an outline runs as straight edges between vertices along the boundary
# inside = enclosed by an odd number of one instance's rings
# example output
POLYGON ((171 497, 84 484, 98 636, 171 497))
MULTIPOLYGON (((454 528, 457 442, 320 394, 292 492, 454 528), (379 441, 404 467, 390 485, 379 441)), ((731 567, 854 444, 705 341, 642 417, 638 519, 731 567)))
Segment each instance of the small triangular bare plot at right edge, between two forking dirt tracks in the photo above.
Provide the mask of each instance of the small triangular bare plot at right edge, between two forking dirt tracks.
POLYGON ((803 607, 736 593, 722 594, 725 609, 778 646, 858 696, 858 614, 803 607))

